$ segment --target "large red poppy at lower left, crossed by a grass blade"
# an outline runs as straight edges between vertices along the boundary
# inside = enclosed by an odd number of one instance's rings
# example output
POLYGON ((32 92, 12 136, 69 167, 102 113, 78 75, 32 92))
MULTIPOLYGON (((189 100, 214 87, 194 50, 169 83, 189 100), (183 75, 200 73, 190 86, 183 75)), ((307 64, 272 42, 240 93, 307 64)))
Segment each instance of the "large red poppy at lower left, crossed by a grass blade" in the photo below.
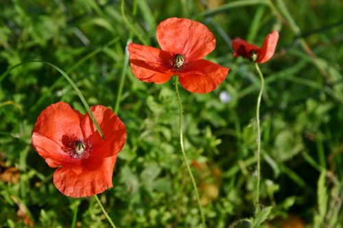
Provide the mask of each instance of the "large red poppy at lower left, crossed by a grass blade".
POLYGON ((117 153, 126 140, 126 128, 112 110, 91 107, 105 140, 88 114, 58 102, 38 116, 32 145, 45 162, 57 168, 54 184, 68 197, 90 197, 112 187, 117 153))

